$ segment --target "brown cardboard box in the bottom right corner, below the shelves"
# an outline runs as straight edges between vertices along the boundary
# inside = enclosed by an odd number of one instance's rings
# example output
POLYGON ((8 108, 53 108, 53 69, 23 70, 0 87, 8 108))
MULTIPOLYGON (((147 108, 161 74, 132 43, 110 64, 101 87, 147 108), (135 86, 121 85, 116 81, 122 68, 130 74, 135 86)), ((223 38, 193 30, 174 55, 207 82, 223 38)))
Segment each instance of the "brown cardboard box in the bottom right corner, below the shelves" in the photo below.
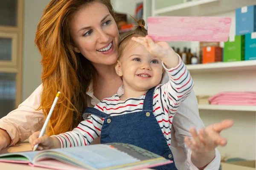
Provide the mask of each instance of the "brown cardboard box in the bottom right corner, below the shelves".
POLYGON ((220 169, 221 170, 255 170, 255 160, 221 162, 220 169))

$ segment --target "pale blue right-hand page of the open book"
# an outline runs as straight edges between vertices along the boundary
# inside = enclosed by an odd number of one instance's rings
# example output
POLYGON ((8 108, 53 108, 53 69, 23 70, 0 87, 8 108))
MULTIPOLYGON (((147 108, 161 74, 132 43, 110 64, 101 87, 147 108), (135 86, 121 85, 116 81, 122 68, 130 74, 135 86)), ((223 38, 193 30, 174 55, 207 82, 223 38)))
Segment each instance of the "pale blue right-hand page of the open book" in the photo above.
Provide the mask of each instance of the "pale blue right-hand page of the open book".
POLYGON ((40 164, 40 158, 45 157, 56 158, 59 161, 62 159, 64 162, 87 169, 101 169, 140 161, 107 144, 46 150, 36 156, 33 163, 40 164))

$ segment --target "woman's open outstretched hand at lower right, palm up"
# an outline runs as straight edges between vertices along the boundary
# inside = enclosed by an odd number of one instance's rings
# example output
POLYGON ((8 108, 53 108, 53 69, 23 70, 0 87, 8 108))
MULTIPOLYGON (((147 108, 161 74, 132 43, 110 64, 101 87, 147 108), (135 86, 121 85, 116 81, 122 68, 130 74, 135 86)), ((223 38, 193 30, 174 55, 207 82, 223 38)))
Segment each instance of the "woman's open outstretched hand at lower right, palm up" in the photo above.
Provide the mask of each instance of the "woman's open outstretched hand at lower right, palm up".
POLYGON ((233 120, 226 119, 200 129, 199 133, 196 132, 194 127, 190 129, 192 139, 186 136, 184 141, 192 150, 191 160, 195 166, 203 167, 214 159, 215 148, 227 144, 227 139, 220 135, 221 131, 232 127, 233 123, 233 120))

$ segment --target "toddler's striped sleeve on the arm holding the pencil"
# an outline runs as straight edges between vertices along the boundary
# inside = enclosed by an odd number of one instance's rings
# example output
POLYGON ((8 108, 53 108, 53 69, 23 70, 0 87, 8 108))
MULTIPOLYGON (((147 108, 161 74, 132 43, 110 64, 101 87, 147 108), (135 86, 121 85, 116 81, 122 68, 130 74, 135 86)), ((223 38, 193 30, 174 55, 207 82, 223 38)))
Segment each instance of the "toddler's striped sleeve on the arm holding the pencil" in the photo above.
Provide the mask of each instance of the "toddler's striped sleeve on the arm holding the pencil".
POLYGON ((97 116, 89 115, 72 131, 54 136, 61 142, 61 148, 85 146, 100 136, 103 120, 97 116))

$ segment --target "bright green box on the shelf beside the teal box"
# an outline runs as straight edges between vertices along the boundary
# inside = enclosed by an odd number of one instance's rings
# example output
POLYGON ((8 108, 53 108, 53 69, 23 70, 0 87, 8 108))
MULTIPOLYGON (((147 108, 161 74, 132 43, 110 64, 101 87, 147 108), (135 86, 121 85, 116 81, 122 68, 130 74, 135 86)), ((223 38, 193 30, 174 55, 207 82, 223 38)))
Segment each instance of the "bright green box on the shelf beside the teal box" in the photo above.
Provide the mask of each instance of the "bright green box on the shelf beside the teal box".
POLYGON ((224 42, 224 62, 244 60, 244 35, 230 36, 224 42))

